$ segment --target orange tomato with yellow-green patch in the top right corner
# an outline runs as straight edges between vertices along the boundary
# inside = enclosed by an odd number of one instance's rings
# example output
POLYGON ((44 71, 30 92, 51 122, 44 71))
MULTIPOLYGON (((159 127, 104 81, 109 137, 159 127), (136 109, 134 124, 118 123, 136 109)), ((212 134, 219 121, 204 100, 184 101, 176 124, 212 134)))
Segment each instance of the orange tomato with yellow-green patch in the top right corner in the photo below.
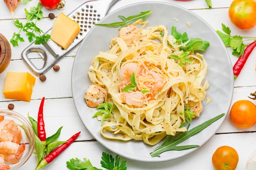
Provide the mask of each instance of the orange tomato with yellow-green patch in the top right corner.
POLYGON ((240 29, 251 29, 256 25, 255 13, 255 0, 234 0, 229 7, 229 19, 240 29))

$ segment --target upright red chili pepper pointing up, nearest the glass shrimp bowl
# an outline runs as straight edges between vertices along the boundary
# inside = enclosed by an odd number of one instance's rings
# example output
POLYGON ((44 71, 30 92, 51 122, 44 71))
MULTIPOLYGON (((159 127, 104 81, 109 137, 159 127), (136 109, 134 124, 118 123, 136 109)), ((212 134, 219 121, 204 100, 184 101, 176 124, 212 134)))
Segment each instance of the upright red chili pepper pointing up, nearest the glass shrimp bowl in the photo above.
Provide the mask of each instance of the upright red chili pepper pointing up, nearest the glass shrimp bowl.
POLYGON ((45 133, 45 122, 43 119, 43 105, 45 102, 45 97, 43 97, 39 111, 38 111, 38 118, 37 118, 37 133, 38 133, 38 138, 45 142, 46 141, 46 133, 45 133))

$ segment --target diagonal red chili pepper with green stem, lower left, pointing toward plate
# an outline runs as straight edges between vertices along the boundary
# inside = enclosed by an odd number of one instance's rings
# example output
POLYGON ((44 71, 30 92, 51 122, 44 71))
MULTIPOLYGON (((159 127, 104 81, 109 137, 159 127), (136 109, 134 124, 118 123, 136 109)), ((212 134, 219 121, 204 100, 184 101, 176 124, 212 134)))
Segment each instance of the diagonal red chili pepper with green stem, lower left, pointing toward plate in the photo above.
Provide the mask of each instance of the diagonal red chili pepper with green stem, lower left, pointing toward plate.
POLYGON ((47 155, 45 159, 43 159, 39 163, 35 170, 39 170, 40 168, 46 166, 48 163, 52 162, 56 157, 58 157, 58 155, 61 154, 61 152, 63 152, 68 146, 70 146, 74 140, 76 140, 80 133, 81 132, 76 133, 70 139, 67 140, 67 143, 62 144, 61 146, 50 152, 49 155, 47 155))

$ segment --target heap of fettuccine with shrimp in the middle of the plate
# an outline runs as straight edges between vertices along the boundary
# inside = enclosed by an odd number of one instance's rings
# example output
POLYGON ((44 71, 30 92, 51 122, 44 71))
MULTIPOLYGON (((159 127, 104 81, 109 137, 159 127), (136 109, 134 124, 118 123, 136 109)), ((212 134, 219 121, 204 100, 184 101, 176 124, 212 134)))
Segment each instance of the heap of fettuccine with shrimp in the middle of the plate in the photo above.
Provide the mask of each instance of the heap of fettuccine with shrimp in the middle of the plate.
POLYGON ((106 89, 104 101, 115 105, 101 124, 103 137, 155 145, 187 130, 181 125, 200 115, 209 86, 204 56, 182 50, 187 43, 177 43, 163 25, 128 25, 109 51, 94 57, 90 81, 106 89))

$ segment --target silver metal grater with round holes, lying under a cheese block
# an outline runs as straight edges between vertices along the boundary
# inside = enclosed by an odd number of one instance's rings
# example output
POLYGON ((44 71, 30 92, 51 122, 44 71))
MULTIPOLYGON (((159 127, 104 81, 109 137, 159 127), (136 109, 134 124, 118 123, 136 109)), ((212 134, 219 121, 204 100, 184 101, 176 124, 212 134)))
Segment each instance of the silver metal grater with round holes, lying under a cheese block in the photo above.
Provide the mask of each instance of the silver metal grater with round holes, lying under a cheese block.
MULTIPOLYGON (((92 26, 99 22, 117 1, 118 0, 91 0, 85 2, 67 15, 80 26, 79 35, 67 50, 64 50, 52 40, 48 40, 48 42, 39 45, 32 43, 22 51, 21 57, 23 61, 35 75, 46 73, 52 66, 82 42, 92 26), (35 66, 35 64, 31 62, 30 58, 33 58, 34 52, 38 53, 43 58, 43 67, 38 68, 38 66, 35 66), (29 55, 32 57, 29 57, 29 55)), ((50 34, 51 30, 52 29, 48 30, 45 34, 50 34)))

